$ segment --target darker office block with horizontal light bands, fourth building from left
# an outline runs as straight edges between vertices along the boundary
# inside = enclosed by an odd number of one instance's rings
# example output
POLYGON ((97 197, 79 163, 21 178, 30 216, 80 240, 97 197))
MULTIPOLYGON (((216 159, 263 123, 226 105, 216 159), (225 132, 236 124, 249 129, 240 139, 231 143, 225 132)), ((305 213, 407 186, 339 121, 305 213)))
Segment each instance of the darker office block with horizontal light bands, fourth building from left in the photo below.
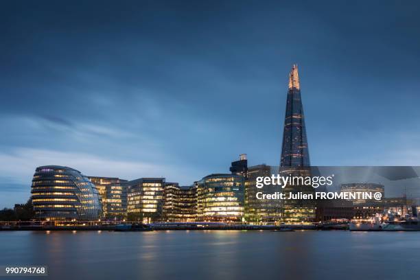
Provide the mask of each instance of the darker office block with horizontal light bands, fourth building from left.
POLYGON ((196 221, 196 186, 179 187, 178 183, 166 183, 163 194, 163 220, 167 222, 196 221))

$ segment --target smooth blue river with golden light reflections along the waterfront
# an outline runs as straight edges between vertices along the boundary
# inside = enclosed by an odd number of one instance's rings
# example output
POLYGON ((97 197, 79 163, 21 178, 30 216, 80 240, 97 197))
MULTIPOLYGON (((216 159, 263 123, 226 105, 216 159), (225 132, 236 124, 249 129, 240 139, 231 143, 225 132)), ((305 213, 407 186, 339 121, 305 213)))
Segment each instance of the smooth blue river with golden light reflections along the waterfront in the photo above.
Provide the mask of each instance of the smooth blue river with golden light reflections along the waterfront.
MULTIPOLYGON (((420 232, 0 232, 12 279, 419 279, 420 232)), ((0 277, 5 279, 5 277, 0 277)))

